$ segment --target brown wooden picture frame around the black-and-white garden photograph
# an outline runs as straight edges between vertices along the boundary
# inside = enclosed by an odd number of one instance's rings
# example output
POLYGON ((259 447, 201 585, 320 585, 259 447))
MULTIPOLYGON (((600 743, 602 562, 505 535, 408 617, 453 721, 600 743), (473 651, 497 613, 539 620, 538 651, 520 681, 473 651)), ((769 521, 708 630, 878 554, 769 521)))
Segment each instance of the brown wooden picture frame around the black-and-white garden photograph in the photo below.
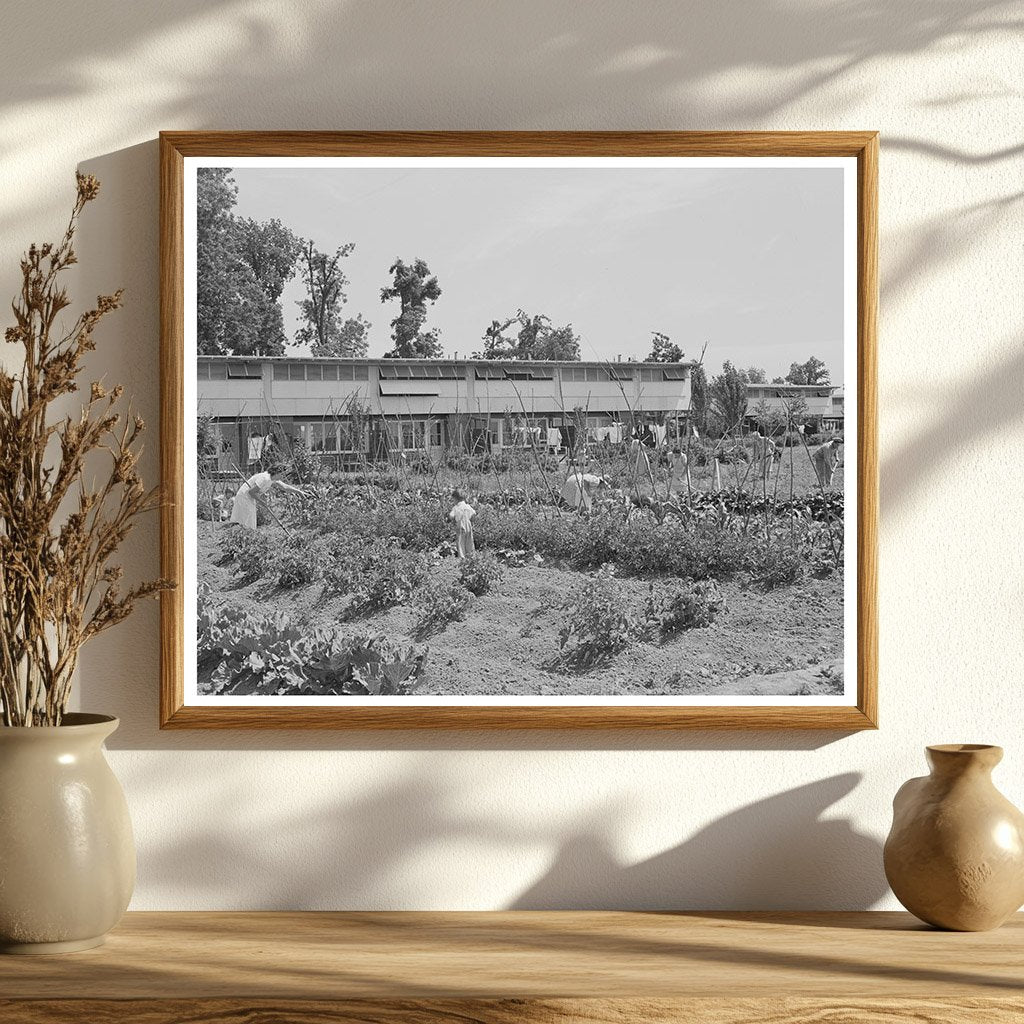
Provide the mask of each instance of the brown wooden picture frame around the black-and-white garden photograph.
MULTIPOLYGON (((830 729, 876 728, 878 723, 878 153, 877 132, 162 132, 161 225, 161 519, 163 573, 178 584, 162 595, 162 728, 329 729, 830 729), (344 706, 258 701, 206 706, 186 695, 185 431, 195 430, 185 399, 186 161, 218 158, 842 158, 855 162, 856 332, 856 644, 852 683, 842 705, 716 706, 635 702, 559 702, 467 706, 387 705, 350 698, 344 706), (848 698, 848 699, 847 699, 848 698)), ((853 166, 853 165, 851 165, 853 166)), ((852 321, 850 321, 852 323, 852 321)), ((852 338, 846 336, 849 346, 852 338)), ((188 371, 191 372, 190 370, 188 371)), ((198 414, 197 414, 198 415, 198 414)), ((853 460, 847 460, 853 465, 853 460)), ((653 482, 653 478, 652 478, 653 482)), ((669 485, 671 495, 671 483, 669 485)), ((849 571, 849 569, 848 569, 849 571)))

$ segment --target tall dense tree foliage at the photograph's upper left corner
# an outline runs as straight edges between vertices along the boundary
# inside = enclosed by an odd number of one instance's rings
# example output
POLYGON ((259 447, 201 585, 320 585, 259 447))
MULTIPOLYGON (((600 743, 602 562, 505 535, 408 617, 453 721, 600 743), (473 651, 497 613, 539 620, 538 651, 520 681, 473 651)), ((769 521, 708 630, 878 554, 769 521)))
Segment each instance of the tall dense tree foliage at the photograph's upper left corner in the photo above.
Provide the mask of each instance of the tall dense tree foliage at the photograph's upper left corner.
POLYGON ((300 242, 280 220, 234 215, 230 168, 197 174, 197 306, 201 354, 280 355, 286 338, 281 293, 300 242))

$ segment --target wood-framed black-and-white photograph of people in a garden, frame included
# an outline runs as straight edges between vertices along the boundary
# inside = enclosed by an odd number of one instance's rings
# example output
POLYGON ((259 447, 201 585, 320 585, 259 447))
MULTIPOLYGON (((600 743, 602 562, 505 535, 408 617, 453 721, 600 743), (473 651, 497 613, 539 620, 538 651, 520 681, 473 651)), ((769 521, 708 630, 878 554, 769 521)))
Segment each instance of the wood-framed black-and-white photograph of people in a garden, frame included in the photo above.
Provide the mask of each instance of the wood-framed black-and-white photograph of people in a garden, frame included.
POLYGON ((162 725, 874 728, 877 159, 162 133, 162 725))

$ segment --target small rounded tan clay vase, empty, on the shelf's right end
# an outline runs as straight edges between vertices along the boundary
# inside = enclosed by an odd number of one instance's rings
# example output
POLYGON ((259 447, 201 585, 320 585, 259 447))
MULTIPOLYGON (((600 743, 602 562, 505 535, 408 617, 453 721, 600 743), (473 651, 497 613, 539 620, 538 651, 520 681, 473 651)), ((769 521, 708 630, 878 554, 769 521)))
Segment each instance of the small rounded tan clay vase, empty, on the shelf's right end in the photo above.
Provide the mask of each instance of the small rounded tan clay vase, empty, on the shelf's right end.
POLYGON ((936 928, 984 932, 1024 903, 1024 814, 992 784, 1002 750, 929 746, 932 773, 893 800, 886 878, 912 914, 936 928))

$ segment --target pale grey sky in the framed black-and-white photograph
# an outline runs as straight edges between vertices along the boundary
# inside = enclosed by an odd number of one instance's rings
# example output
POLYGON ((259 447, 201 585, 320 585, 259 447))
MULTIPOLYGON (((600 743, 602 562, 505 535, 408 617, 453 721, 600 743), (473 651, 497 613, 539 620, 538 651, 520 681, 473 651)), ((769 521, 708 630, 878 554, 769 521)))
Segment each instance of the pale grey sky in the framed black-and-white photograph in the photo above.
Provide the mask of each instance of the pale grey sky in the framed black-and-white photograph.
MULTIPOLYGON (((824 359, 843 381, 842 171, 834 168, 239 168, 236 212, 278 217, 326 252, 352 242, 344 315, 391 347, 382 304, 396 257, 421 257, 441 297, 427 325, 446 355, 478 349, 517 308, 571 323, 585 359, 642 358, 663 331, 707 365, 824 359)), ((297 327, 296 278, 283 296, 297 327)))

